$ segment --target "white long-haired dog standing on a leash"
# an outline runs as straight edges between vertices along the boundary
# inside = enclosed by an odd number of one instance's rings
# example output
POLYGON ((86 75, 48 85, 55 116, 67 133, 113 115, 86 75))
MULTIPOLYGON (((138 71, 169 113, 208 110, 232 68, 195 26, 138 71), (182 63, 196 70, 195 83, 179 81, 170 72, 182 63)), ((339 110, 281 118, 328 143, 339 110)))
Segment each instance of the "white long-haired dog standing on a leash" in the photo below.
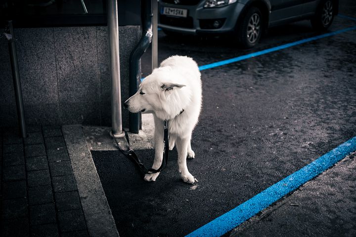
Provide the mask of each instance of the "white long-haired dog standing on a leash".
MULTIPOLYGON (((196 62, 185 56, 164 60, 140 84, 138 91, 125 102, 132 113, 151 112, 155 123, 155 158, 153 169, 163 159, 164 120, 168 120, 169 149, 177 146, 178 169, 186 183, 197 181, 188 171, 186 158, 194 158, 190 139, 198 122, 202 104, 200 72, 196 62)), ((145 181, 156 181, 159 173, 146 174, 145 181)))

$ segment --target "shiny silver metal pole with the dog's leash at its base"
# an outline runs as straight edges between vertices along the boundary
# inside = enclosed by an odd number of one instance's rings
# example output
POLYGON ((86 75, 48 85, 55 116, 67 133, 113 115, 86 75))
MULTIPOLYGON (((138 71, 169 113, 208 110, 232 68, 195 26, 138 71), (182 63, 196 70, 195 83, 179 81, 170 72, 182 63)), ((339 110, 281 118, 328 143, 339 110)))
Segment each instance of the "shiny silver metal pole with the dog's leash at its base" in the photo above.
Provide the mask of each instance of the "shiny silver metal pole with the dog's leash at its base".
POLYGON ((107 1, 107 21, 109 31, 110 77, 111 77, 111 119, 112 135, 122 137, 119 23, 116 0, 107 1))

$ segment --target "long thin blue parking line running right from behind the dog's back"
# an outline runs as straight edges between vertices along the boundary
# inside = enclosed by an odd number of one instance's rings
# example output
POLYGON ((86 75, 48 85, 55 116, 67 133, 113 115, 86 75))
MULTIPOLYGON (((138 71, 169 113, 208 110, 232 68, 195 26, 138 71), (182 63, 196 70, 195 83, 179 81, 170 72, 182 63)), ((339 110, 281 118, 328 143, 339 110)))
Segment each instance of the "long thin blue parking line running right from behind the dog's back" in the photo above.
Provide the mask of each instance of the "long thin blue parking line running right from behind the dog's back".
POLYGON ((258 52, 249 53, 249 54, 242 55, 242 56, 239 56, 239 57, 236 57, 236 58, 230 58, 230 59, 226 59, 226 60, 223 60, 223 61, 220 61, 220 62, 203 65, 203 66, 199 67, 199 70, 203 71, 203 70, 210 69, 210 68, 220 67, 220 66, 223 66, 223 65, 226 65, 226 64, 235 63, 235 62, 242 61, 242 60, 245 60, 245 59, 248 59, 248 58, 257 57, 257 56, 260 56, 260 55, 263 55, 263 54, 267 54, 267 53, 270 53, 270 52, 274 52, 274 51, 278 51, 278 50, 281 50, 281 49, 289 48, 289 47, 292 47, 292 46, 295 46, 295 45, 299 45, 299 44, 302 44, 302 43, 306 43, 306 42, 310 42, 310 41, 313 41, 313 40, 319 40, 319 39, 323 39, 323 38, 326 38, 326 37, 335 36, 335 35, 338 35, 338 34, 341 34, 341 33, 344 33, 344 32, 348 32, 348 31, 353 31, 353 30, 356 30, 356 27, 350 27, 350 28, 346 28, 346 29, 343 29, 343 30, 340 30, 340 31, 330 32, 330 33, 326 33, 326 34, 323 34, 323 35, 307 38, 307 39, 304 39, 304 40, 298 40, 298 41, 295 41, 295 42, 286 43, 286 44, 283 44, 283 45, 280 45, 280 46, 276 46, 276 47, 273 47, 273 48, 268 48, 268 49, 261 50, 261 51, 258 51, 258 52))

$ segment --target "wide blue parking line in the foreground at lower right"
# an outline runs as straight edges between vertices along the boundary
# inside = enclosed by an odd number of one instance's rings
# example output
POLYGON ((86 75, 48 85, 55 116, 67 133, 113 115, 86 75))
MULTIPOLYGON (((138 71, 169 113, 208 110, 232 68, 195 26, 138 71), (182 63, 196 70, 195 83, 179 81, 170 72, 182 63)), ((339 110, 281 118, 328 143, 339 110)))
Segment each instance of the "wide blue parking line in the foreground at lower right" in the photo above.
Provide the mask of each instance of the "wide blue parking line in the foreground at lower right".
POLYGON ((356 151, 356 137, 317 158, 186 237, 220 237, 356 151))

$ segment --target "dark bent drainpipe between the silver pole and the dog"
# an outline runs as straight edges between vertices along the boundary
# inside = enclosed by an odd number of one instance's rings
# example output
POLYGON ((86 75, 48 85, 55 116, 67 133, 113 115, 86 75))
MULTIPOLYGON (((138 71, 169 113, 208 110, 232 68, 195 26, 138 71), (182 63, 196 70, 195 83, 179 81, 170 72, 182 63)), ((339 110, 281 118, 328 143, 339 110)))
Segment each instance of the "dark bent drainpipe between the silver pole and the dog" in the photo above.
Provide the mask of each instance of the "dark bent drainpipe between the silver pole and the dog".
MULTIPOLYGON (((130 96, 133 96, 137 92, 138 84, 141 80, 139 60, 152 41, 152 16, 153 14, 151 0, 141 0, 142 36, 130 55, 130 96)), ((141 114, 129 114, 130 132, 138 133, 140 126, 140 118, 141 114)))

